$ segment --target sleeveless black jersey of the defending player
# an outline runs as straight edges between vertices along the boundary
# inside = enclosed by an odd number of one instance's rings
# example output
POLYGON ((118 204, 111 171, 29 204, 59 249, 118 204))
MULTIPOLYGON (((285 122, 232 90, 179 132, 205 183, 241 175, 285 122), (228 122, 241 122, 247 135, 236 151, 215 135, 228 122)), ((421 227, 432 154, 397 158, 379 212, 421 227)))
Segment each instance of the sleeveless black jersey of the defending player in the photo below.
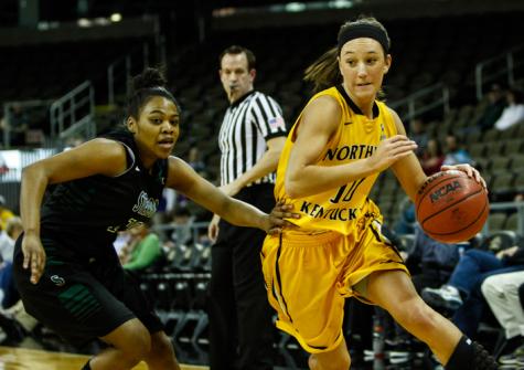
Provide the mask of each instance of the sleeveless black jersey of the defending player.
POLYGON ((143 168, 130 133, 104 137, 126 147, 127 170, 114 178, 97 175, 60 183, 42 207, 42 237, 60 235, 69 241, 64 252, 86 258, 113 254, 117 232, 152 218, 168 176, 167 159, 158 160, 151 170, 143 168))

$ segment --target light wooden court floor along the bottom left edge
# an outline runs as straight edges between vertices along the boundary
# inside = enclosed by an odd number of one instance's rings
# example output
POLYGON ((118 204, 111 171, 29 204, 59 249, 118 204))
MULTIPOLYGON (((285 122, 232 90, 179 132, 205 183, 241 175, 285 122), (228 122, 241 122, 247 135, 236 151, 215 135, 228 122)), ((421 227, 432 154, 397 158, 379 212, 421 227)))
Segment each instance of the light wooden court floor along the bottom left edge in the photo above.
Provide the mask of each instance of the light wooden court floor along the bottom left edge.
MULTIPOLYGON (((63 352, 49 352, 40 349, 1 347, 1 370, 79 370, 87 362, 88 356, 63 352)), ((133 370, 147 370, 140 363, 133 370)), ((182 370, 207 370, 207 367, 183 364, 182 370)))

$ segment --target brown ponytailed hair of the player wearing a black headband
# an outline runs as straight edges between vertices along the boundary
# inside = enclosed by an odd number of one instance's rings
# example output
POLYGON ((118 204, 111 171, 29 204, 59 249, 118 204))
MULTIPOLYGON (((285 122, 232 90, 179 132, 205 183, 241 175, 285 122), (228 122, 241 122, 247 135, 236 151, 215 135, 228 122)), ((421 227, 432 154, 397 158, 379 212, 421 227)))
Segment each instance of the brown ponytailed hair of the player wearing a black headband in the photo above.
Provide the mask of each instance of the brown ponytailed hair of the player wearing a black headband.
MULTIPOLYGON (((341 25, 336 40, 339 40, 341 34, 345 33, 349 29, 362 25, 376 28, 381 32, 384 32, 387 39, 387 50, 389 50, 391 40, 387 35, 387 31, 384 25, 374 17, 360 15, 355 21, 345 22, 341 25)), ((384 50, 384 55, 385 54, 386 50, 384 50)), ((306 82, 313 83, 313 92, 318 93, 321 89, 342 83, 342 75, 340 74, 339 70, 339 61, 336 60, 338 56, 339 46, 334 46, 306 68, 303 80, 306 82)))

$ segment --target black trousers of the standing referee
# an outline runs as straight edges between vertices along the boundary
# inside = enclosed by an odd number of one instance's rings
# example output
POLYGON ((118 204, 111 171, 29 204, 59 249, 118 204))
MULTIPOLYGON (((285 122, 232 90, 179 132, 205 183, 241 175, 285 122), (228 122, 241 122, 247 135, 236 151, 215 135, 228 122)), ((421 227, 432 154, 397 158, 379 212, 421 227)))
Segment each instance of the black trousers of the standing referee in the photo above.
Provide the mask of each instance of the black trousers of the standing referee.
MULTIPOLYGON (((269 212, 272 186, 244 188, 235 198, 269 212)), ((267 302, 260 250, 266 233, 221 221, 212 247, 210 364, 212 370, 272 369, 272 311, 267 302)))

